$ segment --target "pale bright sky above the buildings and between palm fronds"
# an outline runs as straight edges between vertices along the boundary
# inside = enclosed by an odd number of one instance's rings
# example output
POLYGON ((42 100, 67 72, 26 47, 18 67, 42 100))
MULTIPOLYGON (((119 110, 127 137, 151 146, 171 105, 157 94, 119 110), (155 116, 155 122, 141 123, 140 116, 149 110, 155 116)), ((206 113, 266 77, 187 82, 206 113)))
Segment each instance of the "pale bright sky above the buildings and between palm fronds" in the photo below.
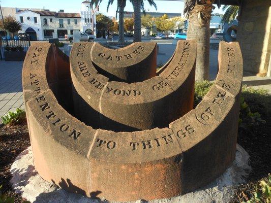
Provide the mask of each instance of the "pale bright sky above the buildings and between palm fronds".
MULTIPOLYGON (((58 11, 59 9, 64 9, 65 12, 74 12, 79 13, 81 8, 81 2, 84 0, 1 0, 0 4, 2 7, 18 7, 18 8, 45 8, 50 11, 58 11)), ((109 7, 108 13, 106 13, 107 0, 103 0, 100 4, 100 13, 103 13, 107 16, 115 16, 116 12, 116 3, 109 7)), ((157 12, 165 13, 182 13, 184 3, 183 2, 170 2, 170 1, 156 1, 157 12)), ((156 12, 154 7, 150 7, 145 1, 145 9, 149 12, 156 12)), ((125 11, 133 11, 132 4, 130 1, 127 1, 125 11)), ((215 9, 215 13, 223 13, 221 9, 215 9)))

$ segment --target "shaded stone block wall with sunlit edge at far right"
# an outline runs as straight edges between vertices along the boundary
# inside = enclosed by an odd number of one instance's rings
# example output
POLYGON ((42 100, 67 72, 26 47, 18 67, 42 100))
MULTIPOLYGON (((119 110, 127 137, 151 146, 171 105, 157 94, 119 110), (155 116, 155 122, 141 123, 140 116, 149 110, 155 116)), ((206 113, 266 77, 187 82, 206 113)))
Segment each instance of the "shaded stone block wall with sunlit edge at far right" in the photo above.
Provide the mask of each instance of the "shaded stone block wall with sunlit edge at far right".
POLYGON ((237 33, 244 71, 266 76, 271 52, 271 1, 245 0, 237 33))

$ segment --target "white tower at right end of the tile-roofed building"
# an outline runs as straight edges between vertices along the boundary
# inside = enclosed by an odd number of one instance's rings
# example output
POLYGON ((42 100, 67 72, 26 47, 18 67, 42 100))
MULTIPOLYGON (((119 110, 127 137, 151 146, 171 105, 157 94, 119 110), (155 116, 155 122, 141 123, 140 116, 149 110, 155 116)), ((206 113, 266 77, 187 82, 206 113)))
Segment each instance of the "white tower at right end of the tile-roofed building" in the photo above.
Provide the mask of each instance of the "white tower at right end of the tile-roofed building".
POLYGON ((96 14, 93 14, 89 1, 84 1, 81 4, 81 31, 96 36, 96 14))

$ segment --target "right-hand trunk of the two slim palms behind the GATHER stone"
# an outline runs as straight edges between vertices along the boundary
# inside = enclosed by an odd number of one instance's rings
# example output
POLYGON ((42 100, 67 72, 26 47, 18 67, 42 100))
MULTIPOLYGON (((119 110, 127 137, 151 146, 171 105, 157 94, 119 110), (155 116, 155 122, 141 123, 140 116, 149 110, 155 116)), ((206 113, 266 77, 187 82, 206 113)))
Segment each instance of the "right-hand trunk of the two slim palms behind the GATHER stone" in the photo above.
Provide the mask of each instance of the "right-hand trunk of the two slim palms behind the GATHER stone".
POLYGON ((141 13, 140 1, 134 0, 134 42, 141 42, 141 13))

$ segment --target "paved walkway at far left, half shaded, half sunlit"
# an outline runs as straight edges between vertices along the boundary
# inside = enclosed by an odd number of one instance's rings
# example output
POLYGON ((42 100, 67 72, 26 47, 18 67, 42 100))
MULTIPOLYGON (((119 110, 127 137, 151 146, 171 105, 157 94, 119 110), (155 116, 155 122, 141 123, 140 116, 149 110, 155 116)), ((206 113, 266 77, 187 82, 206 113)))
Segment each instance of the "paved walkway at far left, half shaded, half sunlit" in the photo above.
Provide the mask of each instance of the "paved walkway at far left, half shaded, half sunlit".
POLYGON ((22 64, 22 61, 0 61, 0 117, 17 108, 25 109, 21 82, 22 64))

